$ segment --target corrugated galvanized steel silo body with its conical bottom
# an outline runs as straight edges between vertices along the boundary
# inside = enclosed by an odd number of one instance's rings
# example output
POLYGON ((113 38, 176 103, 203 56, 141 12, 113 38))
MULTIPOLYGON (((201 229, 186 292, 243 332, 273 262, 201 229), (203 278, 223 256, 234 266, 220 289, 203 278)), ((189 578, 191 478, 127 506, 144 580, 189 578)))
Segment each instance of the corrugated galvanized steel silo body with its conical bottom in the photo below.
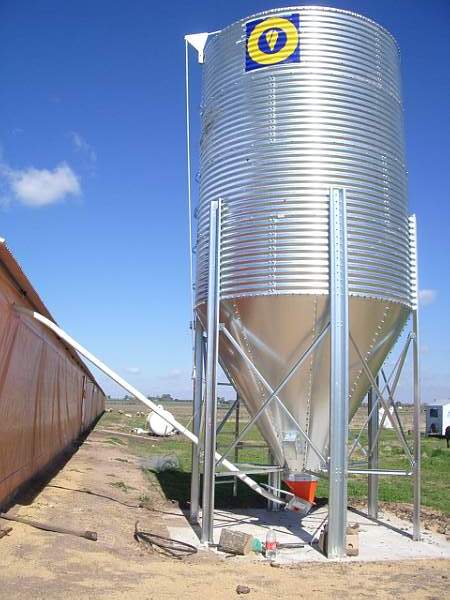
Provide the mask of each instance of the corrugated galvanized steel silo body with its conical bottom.
MULTIPOLYGON (((329 318, 332 186, 347 190, 350 330, 372 371, 383 363, 411 308, 406 185, 399 53, 385 29, 347 11, 291 7, 210 35, 197 311, 205 324, 209 204, 220 197, 220 320, 272 387, 329 318)), ((254 414, 266 390, 224 338, 219 356, 254 414)), ((325 456, 329 368, 326 344, 280 393, 325 456)), ((368 387, 352 351, 351 414, 368 387)), ((276 404, 258 426, 292 472, 320 466, 276 404)))

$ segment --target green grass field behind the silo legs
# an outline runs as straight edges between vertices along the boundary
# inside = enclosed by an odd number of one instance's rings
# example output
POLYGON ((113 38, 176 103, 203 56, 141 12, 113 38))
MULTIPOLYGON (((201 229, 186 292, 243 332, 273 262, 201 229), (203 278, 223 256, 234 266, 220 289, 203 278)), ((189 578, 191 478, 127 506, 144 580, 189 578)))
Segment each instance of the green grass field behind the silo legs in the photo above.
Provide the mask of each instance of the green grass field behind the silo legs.
MULTIPOLYGON (((126 407, 121 407, 127 411, 126 407)), ((133 410, 129 412, 135 415, 135 410, 141 410, 140 406, 133 406, 133 410)), ((174 403, 167 406, 175 417, 184 425, 188 425, 190 421, 189 404, 181 405, 174 403)), ((128 412, 128 411, 127 411, 128 412)), ((224 411, 220 411, 219 419, 224 411)), ((245 424, 244 421, 241 427, 245 424)), ((228 422, 222 432, 218 436, 218 449, 226 448, 234 439, 234 423, 233 418, 228 422)), ((97 425, 98 428, 111 428, 124 430, 124 426, 128 429, 132 427, 144 427, 145 418, 125 417, 117 412, 105 413, 97 425)), ((352 437, 356 432, 351 432, 352 437)), ((113 436, 112 436, 113 437, 113 436)), ((255 444, 262 442, 259 431, 256 428, 250 430, 246 441, 251 441, 255 444)), ((364 444, 367 441, 365 435, 362 436, 361 442, 364 444)), ((410 446, 412 439, 409 438, 410 446)), ((145 438, 141 441, 135 438, 122 437, 120 441, 116 437, 111 440, 111 443, 124 443, 136 455, 141 457, 154 455, 173 455, 175 454, 179 460, 178 471, 166 471, 156 474, 151 470, 147 470, 147 474, 151 479, 157 477, 164 493, 168 498, 178 500, 184 504, 189 499, 189 480, 191 471, 191 444, 181 435, 171 438, 165 438, 149 443, 145 438)), ((445 440, 422 437, 422 504, 423 506, 437 509, 443 513, 450 515, 450 449, 446 448, 445 440)), ((355 452, 355 459, 361 458, 355 452)), ((234 460, 234 454, 230 456, 234 460)), ((239 451, 239 462, 241 463, 256 463, 268 464, 267 448, 243 448, 239 451)), ((404 469, 408 470, 408 461, 405 458, 403 448, 398 441, 395 433, 390 430, 383 430, 380 436, 380 468, 386 469, 404 469)), ((218 506, 249 506, 262 505, 264 500, 256 496, 244 484, 239 482, 238 498, 232 496, 232 479, 230 484, 217 486, 216 498, 218 506)), ((260 479, 264 482, 264 479, 260 479)), ((412 481, 409 477, 380 477, 380 500, 388 502, 412 502, 412 481)), ((350 499, 363 500, 367 497, 367 478, 364 476, 352 476, 349 479, 348 493, 350 499)), ((326 480, 321 480, 318 487, 318 496, 326 497, 328 494, 328 484, 326 480)))

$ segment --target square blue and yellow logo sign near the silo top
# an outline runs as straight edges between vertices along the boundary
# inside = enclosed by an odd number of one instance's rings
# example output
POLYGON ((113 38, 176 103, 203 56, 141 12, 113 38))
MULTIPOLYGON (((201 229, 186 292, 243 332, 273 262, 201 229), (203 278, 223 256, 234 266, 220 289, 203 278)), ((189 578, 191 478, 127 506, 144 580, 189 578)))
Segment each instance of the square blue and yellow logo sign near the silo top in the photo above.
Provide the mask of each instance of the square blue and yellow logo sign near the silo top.
POLYGON ((245 70, 300 62, 299 26, 298 13, 247 23, 245 70))

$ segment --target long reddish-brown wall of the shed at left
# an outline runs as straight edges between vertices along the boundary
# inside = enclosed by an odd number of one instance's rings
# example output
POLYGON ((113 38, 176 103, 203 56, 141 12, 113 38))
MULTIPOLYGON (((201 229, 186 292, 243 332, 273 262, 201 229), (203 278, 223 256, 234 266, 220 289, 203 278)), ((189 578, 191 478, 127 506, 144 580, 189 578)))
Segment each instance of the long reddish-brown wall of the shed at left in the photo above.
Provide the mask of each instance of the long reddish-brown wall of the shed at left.
POLYGON ((0 242, 0 503, 88 429, 105 403, 78 355, 14 304, 52 318, 0 242))

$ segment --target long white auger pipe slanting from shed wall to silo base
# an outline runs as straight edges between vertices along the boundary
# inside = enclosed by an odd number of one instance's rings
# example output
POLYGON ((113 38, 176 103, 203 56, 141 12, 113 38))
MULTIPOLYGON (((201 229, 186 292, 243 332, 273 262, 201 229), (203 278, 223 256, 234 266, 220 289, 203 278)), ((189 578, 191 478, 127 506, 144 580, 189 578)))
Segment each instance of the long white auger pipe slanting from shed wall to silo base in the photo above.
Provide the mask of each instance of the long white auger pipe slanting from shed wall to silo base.
MULTIPOLYGON (((67 334, 63 329, 61 329, 61 327, 58 327, 58 325, 56 325, 56 323, 53 323, 53 321, 50 321, 50 319, 47 319, 40 313, 35 312, 33 310, 29 310, 28 308, 24 308, 23 306, 15 305, 15 309, 17 312, 27 315, 28 317, 31 317, 31 318, 35 319, 36 321, 39 321, 40 323, 45 325, 48 329, 53 331, 53 333, 55 333, 59 338, 64 340, 67 344, 69 344, 69 346, 72 346, 72 348, 74 348, 74 350, 76 350, 79 354, 84 356, 84 358, 86 358, 89 362, 91 362, 93 365, 95 365, 105 375, 110 377, 118 385, 120 385, 127 392, 129 392, 132 396, 134 396, 135 398, 140 400, 143 404, 145 404, 148 408, 150 408, 150 410, 152 410, 158 416, 160 416, 161 419, 166 421, 166 423, 169 423, 169 425, 172 425, 172 427, 174 429, 176 429, 181 434, 183 434, 185 437, 187 437, 188 440, 190 440, 193 444, 195 444, 197 446, 199 445, 199 439, 196 435, 194 435, 192 433, 192 431, 190 431, 189 429, 184 427, 184 425, 179 423, 172 415, 169 416, 169 415, 165 414, 165 412, 163 410, 159 409, 156 404, 154 404, 151 400, 149 400, 146 396, 144 396, 144 394, 142 394, 138 389, 136 389, 134 386, 132 386, 130 383, 128 383, 128 381, 123 379, 123 377, 121 377, 115 371, 113 371, 107 365, 105 365, 105 363, 103 363, 100 359, 98 359, 91 352, 89 352, 89 350, 87 350, 81 344, 79 344, 76 340, 74 340, 69 334, 67 334)), ((222 458, 222 455, 219 454, 218 452, 216 452, 215 458, 216 458, 216 460, 220 460, 222 458)), ((264 498, 267 498, 267 500, 271 500, 272 502, 276 502, 277 504, 283 504, 283 505, 286 504, 286 502, 284 500, 281 500, 281 498, 277 498, 277 496, 274 496, 267 490, 263 489, 254 479, 252 479, 251 477, 248 477, 248 475, 246 475, 245 473, 240 471, 238 469, 238 467, 236 467, 236 465, 234 465, 229 460, 226 460, 226 459, 223 460, 222 464, 228 471, 230 471, 231 473, 236 475, 236 477, 239 477, 239 479, 241 481, 243 481, 246 485, 248 485, 248 487, 251 488, 257 494, 260 494, 264 498)))

